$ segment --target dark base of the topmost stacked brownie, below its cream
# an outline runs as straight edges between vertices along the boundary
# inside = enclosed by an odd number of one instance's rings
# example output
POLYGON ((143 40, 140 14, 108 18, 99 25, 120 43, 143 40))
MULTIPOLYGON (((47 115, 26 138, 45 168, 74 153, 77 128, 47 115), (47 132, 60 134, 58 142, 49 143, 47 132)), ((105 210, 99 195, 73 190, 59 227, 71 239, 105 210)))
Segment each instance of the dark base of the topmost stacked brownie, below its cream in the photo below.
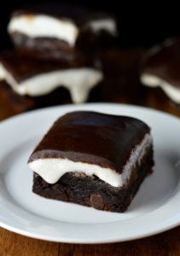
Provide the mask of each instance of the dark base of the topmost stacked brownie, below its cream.
POLYGON ((112 37, 106 32, 100 33, 98 38, 92 32, 86 32, 74 47, 60 39, 29 38, 19 32, 12 33, 11 38, 20 55, 39 60, 67 61, 72 64, 81 64, 87 59, 93 60, 100 49, 113 45, 112 37))

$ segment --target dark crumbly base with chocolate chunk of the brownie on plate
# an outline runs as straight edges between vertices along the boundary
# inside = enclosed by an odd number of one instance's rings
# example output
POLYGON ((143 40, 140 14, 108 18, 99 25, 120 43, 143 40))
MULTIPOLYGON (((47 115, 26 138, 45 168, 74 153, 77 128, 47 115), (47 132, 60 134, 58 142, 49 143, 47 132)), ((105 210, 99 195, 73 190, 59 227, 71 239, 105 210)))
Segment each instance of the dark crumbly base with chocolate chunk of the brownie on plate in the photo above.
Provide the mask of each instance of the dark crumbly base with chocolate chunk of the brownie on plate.
POLYGON ((59 201, 68 201, 86 207, 109 212, 125 212, 130 206, 142 181, 154 166, 153 148, 149 148, 142 166, 135 166, 131 178, 123 188, 115 188, 98 177, 69 172, 55 184, 46 183, 34 173, 32 191, 38 195, 59 201))

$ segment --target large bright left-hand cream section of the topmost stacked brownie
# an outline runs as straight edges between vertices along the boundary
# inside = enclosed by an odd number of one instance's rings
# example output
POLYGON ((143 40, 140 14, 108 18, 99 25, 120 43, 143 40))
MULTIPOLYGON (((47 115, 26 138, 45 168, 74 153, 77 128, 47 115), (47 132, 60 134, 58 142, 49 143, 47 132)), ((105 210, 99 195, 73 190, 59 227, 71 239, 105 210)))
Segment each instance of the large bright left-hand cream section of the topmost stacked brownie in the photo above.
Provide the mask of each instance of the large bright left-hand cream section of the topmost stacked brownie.
POLYGON ((9 33, 20 32, 30 38, 58 38, 73 46, 78 38, 78 27, 71 20, 59 20, 48 15, 20 15, 13 17, 9 33))

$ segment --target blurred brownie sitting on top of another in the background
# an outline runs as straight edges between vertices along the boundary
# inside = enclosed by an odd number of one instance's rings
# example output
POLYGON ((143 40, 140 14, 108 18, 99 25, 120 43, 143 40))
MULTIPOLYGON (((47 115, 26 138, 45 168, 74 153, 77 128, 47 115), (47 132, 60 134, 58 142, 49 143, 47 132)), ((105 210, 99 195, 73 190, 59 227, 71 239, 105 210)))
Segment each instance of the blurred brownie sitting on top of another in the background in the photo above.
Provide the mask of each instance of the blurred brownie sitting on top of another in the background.
POLYGON ((113 15, 65 3, 44 3, 15 11, 8 26, 16 48, 44 59, 84 58, 117 36, 113 15))

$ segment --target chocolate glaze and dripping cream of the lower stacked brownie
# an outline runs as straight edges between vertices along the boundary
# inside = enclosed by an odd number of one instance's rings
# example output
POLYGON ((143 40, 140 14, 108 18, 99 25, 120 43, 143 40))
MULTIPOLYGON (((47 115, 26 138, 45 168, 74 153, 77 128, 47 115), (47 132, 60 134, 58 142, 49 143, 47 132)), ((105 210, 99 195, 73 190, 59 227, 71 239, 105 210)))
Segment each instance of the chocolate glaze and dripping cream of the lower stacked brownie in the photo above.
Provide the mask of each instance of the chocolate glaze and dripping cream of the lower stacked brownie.
POLYGON ((85 102, 91 88, 102 81, 102 71, 94 63, 81 66, 65 62, 37 61, 14 52, 0 56, 0 80, 19 96, 48 96, 63 86, 74 103, 85 102))

